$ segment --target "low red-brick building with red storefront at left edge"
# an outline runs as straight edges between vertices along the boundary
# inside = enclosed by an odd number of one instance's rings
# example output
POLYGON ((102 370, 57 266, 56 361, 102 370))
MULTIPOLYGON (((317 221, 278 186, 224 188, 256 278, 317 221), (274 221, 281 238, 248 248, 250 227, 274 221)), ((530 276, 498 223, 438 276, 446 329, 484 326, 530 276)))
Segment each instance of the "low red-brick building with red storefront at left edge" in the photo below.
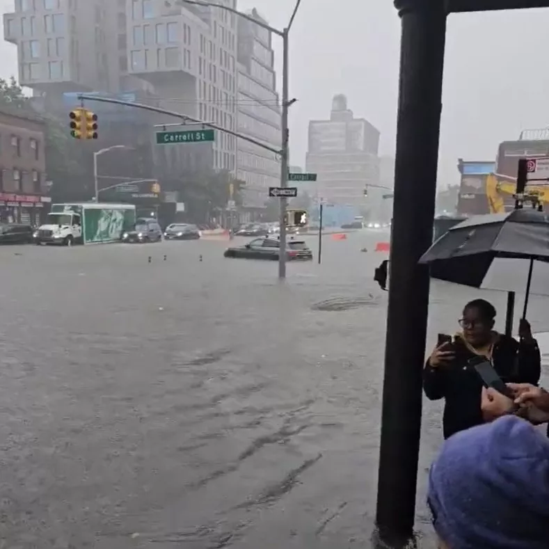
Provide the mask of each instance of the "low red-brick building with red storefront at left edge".
POLYGON ((0 106, 0 221, 40 224, 46 189, 45 124, 0 106))

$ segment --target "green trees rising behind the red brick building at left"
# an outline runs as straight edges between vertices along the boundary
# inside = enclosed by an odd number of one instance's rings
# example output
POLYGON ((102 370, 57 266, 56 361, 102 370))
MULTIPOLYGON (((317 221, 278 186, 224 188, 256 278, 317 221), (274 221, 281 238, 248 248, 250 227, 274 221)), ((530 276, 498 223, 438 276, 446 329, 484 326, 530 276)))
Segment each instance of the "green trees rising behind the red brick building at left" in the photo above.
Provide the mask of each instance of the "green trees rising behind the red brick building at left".
POLYGON ((0 79, 0 107, 37 116, 45 122, 46 175, 54 183, 52 192, 65 198, 80 198, 74 182, 81 182, 83 175, 82 153, 61 122, 47 113, 36 113, 31 97, 24 95, 15 77, 0 79))

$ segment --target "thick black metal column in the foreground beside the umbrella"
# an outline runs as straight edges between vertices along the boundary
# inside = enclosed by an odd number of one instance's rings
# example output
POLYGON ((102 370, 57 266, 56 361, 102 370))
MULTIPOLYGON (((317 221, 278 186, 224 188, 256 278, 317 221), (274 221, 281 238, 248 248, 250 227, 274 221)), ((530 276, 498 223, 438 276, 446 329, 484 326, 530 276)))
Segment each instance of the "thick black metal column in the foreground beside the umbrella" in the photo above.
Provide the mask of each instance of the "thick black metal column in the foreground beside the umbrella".
POLYGON ((401 60, 376 523, 384 543, 413 536, 446 35, 445 2, 395 0, 401 60), (419 198, 419 200, 418 200, 419 198))

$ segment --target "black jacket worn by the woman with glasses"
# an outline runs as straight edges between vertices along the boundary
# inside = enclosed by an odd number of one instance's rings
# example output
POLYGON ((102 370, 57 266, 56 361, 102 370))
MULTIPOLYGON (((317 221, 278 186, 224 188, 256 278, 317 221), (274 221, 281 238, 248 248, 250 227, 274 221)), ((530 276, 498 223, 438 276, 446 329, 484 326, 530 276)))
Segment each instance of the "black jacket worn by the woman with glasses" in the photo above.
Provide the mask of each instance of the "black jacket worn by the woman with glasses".
MULTIPOLYGON (((518 343, 502 335, 492 351, 495 371, 506 383, 537 385, 541 375, 541 356, 537 342, 518 343)), ((447 366, 431 368, 429 360, 423 373, 423 388, 429 400, 445 399, 444 438, 483 422, 480 409, 482 381, 465 360, 456 358, 447 366)))

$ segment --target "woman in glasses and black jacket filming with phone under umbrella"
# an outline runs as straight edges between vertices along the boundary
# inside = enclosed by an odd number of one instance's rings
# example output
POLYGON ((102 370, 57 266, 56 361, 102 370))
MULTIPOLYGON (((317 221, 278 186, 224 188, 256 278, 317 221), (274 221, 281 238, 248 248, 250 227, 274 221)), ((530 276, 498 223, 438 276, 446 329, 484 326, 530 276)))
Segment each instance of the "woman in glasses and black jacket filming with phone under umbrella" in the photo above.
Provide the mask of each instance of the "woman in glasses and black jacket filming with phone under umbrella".
POLYGON ((541 356, 530 324, 520 320, 519 337, 496 332, 495 308, 484 299, 475 299, 463 308, 462 330, 452 342, 441 342, 427 360, 423 376, 425 395, 430 400, 445 399, 444 438, 483 423, 482 380, 468 360, 481 356, 494 367, 505 383, 537 385, 541 356))

